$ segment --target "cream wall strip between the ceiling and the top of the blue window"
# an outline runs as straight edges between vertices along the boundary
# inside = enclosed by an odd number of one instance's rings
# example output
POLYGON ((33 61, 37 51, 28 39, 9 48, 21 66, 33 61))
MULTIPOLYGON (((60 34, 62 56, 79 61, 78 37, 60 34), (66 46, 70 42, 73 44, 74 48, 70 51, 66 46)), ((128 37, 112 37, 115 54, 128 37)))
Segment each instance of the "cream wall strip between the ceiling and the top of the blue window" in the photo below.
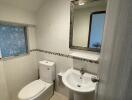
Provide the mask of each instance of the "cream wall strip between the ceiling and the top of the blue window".
POLYGON ((0 21, 35 25, 35 13, 0 3, 0 21))

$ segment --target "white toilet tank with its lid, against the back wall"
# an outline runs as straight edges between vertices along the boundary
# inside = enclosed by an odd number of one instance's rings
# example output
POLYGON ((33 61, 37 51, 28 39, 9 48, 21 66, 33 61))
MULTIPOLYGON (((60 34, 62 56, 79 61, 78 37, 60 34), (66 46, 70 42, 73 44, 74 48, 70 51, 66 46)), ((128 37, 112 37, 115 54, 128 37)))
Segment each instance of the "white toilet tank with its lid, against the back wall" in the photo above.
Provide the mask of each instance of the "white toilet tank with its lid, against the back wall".
POLYGON ((55 62, 39 61, 39 76, 42 81, 53 83, 55 80, 55 62))

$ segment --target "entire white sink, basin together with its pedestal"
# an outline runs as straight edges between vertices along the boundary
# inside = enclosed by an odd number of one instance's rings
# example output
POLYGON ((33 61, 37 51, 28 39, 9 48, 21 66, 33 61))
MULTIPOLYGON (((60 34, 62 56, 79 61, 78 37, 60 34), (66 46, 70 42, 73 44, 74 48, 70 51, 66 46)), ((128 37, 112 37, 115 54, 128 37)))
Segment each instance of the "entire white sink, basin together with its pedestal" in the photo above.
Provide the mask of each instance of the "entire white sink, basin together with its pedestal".
POLYGON ((69 69, 64 73, 62 81, 73 92, 73 100, 92 100, 96 83, 91 81, 91 77, 96 76, 89 73, 81 75, 78 70, 69 69))

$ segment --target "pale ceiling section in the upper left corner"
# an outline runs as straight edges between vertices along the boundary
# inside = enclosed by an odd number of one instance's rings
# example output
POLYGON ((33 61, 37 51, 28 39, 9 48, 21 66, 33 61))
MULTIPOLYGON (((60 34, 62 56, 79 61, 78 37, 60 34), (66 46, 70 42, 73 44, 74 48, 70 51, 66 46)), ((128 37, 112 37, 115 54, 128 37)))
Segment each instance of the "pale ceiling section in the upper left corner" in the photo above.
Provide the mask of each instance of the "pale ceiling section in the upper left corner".
POLYGON ((21 9, 36 12, 45 0, 0 0, 0 4, 8 4, 21 9))

